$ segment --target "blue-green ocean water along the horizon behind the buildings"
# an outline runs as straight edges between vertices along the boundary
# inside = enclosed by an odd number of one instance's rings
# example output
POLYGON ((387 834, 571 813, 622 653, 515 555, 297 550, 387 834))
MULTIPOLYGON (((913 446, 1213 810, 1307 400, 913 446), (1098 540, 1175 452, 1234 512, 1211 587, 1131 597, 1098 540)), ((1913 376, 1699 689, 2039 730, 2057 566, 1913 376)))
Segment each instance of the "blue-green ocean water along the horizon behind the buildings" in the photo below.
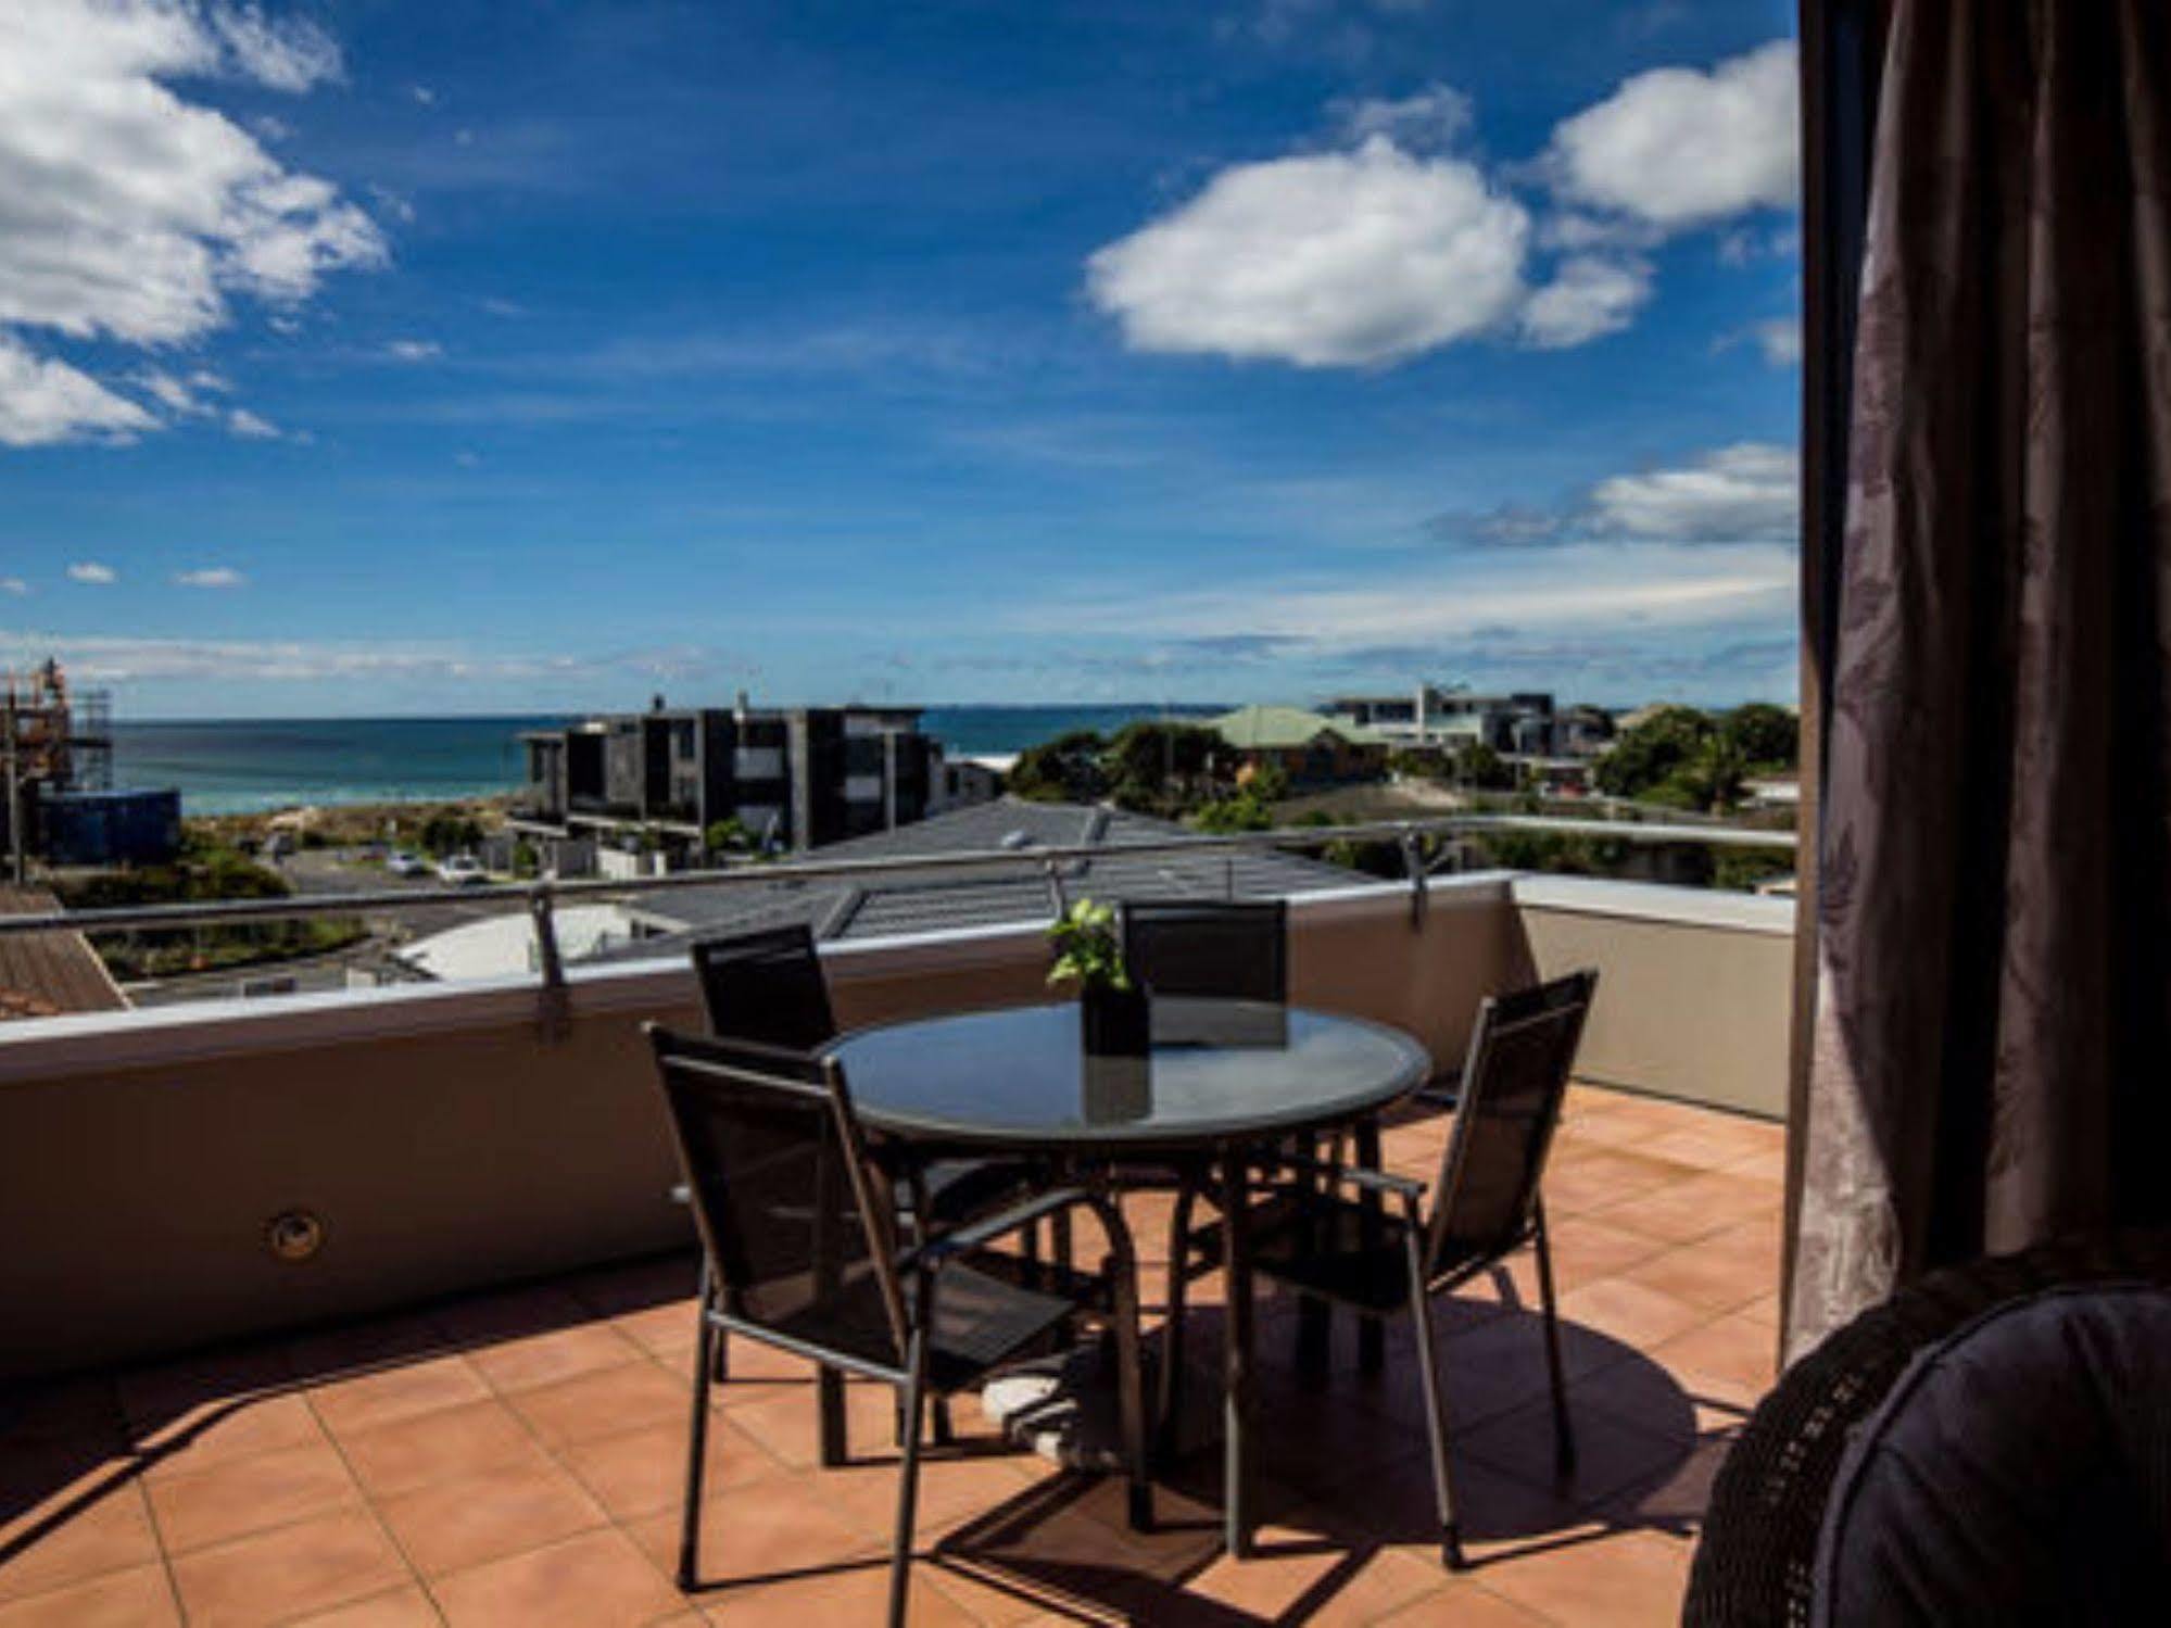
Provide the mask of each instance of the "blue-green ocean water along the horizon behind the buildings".
MULTIPOLYGON (((1023 751, 1070 729, 1201 716, 1209 705, 929 708, 923 727, 957 755, 1023 751)), ((395 803, 488 797, 525 779, 510 718, 217 718, 113 721, 115 786, 178 786, 182 814, 254 814, 295 803, 395 803)))

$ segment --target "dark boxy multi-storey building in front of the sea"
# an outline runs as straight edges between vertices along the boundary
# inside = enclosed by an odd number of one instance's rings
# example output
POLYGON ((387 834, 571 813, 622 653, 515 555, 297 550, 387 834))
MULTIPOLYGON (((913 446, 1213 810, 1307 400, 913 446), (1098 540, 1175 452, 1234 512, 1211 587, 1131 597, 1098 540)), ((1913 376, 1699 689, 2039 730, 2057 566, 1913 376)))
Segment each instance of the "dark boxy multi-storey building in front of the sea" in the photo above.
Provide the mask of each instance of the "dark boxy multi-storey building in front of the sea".
POLYGON ((918 708, 669 708, 532 729, 515 829, 697 855, 736 823, 766 851, 814 849, 929 812, 942 747, 918 708))

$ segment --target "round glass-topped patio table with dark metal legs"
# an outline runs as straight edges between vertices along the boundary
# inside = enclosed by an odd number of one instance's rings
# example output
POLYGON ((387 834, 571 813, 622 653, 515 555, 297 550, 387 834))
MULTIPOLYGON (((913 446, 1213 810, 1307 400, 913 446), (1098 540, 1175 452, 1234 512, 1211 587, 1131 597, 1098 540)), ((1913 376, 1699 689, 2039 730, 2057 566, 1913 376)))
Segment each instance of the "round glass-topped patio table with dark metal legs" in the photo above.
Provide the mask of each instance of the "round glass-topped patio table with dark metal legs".
MULTIPOLYGON (((1155 999, 1151 1018, 1144 1057, 1088 1055, 1075 1003, 879 1025, 831 1055, 860 1120, 929 1155, 1031 1153, 1088 1168, 1159 1157, 1211 1174, 1224 1239, 1222 1517, 1229 1552, 1244 1556, 1253 1159, 1294 1133, 1355 1127, 1359 1161, 1376 1161, 1379 1111, 1422 1085, 1433 1059, 1398 1029, 1309 1007, 1155 999)), ((1379 1331, 1363 1333, 1370 1354, 1379 1331)))

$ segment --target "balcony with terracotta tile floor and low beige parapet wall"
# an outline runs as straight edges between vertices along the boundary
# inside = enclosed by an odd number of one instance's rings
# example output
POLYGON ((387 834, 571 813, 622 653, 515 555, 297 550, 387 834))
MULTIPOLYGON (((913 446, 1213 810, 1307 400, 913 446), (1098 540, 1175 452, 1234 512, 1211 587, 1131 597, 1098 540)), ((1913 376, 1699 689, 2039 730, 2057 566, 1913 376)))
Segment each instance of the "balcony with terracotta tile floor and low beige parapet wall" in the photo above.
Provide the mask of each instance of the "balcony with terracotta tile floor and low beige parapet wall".
MULTIPOLYGON (((1442 1331, 1474 1569, 1439 1567, 1407 1335, 1324 1381, 1259 1307, 1259 1552, 1220 1552, 1218 1454, 1161 1524, 1012 1452, 968 1402, 929 1459, 923 1621, 1659 1621, 1715 1459, 1772 1381, 1791 905, 1485 873, 1292 903, 1292 999, 1461 1057, 1478 1001, 1570 966, 1602 994, 1546 1181, 1578 1467, 1552 1472, 1533 1283, 1442 1331)), ((838 944, 845 1025, 1040 999, 1036 927, 838 944)), ((640 1018, 677 962, 100 1014, 0 1046, 0 1624, 855 1621, 879 1611, 888 1394, 814 1463, 803 1365, 734 1348, 710 1585, 671 1585, 688 1224, 640 1018), (56 1157, 65 1150, 65 1157, 56 1157), (291 1226, 321 1248, 280 1257, 291 1226), (106 1613, 100 1617, 98 1613, 106 1613)), ((1431 1177, 1448 1120, 1400 1114, 1431 1177)), ((1131 1200, 1146 1252, 1166 1198, 1131 1200)), ((1148 1326, 1164 1294, 1146 1265, 1148 1326)), ((1194 1307, 1211 1363, 1216 1305, 1194 1307)), ((1211 1391, 1211 1368, 1198 1389, 1211 1391)))

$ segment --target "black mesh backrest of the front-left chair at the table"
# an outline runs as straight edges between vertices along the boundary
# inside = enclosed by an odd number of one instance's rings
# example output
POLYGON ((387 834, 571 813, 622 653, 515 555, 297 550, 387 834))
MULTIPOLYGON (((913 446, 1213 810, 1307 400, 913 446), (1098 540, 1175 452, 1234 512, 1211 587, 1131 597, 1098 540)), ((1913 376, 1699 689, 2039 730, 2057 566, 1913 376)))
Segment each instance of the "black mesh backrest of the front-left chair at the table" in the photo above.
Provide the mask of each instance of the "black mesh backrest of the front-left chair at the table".
POLYGON ((834 1057, 647 1025, 723 1311, 897 1365, 897 1211, 834 1057))

